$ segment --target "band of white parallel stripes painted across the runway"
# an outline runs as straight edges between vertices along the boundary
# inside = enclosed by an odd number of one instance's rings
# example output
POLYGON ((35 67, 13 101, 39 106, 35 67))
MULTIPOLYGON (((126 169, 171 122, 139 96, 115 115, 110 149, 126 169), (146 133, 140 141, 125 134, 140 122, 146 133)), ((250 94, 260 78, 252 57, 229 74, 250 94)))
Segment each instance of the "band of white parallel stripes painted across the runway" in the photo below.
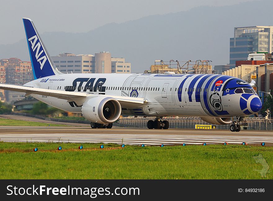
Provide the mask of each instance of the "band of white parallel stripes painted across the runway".
POLYGON ((273 143, 273 137, 219 135, 140 135, 140 134, 0 134, 3 142, 117 143, 117 144, 219 144, 273 143))

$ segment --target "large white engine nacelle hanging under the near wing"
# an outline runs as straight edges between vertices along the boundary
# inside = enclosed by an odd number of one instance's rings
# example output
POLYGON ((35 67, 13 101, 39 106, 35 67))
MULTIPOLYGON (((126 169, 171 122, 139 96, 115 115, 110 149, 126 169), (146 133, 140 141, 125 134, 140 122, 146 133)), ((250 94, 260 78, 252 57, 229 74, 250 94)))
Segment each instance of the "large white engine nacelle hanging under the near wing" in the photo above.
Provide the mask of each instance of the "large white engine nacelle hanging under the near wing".
POLYGON ((119 101, 105 96, 90 98, 82 106, 83 117, 90 122, 113 123, 119 119, 120 113, 119 101))

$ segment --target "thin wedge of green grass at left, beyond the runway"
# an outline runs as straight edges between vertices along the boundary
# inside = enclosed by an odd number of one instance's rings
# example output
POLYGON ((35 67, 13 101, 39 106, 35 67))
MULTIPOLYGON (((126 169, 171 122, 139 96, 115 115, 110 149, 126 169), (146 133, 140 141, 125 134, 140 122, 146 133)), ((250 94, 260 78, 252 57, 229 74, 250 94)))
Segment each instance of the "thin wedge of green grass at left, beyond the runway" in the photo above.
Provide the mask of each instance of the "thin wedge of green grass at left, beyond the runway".
POLYGON ((63 124, 41 123, 17 119, 0 118, 0 126, 48 126, 48 124, 50 124, 50 126, 67 126, 63 124))

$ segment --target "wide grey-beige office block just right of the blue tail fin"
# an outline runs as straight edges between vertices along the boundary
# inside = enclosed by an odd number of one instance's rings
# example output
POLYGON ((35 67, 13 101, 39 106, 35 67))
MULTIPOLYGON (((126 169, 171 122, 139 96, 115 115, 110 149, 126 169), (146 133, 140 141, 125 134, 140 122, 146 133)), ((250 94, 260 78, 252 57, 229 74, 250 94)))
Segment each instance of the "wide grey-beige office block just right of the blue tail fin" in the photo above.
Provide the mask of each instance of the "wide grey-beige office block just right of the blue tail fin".
POLYGON ((95 73, 95 56, 92 54, 60 53, 51 58, 62 73, 95 73))

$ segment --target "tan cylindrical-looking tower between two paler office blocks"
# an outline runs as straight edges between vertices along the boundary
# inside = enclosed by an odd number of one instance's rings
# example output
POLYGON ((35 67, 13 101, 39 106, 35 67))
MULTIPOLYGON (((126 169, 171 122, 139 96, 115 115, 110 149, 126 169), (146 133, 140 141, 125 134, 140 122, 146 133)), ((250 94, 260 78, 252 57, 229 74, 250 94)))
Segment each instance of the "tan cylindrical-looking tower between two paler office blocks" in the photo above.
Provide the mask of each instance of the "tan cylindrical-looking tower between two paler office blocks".
POLYGON ((111 53, 102 51, 95 53, 96 73, 111 73, 111 53))

